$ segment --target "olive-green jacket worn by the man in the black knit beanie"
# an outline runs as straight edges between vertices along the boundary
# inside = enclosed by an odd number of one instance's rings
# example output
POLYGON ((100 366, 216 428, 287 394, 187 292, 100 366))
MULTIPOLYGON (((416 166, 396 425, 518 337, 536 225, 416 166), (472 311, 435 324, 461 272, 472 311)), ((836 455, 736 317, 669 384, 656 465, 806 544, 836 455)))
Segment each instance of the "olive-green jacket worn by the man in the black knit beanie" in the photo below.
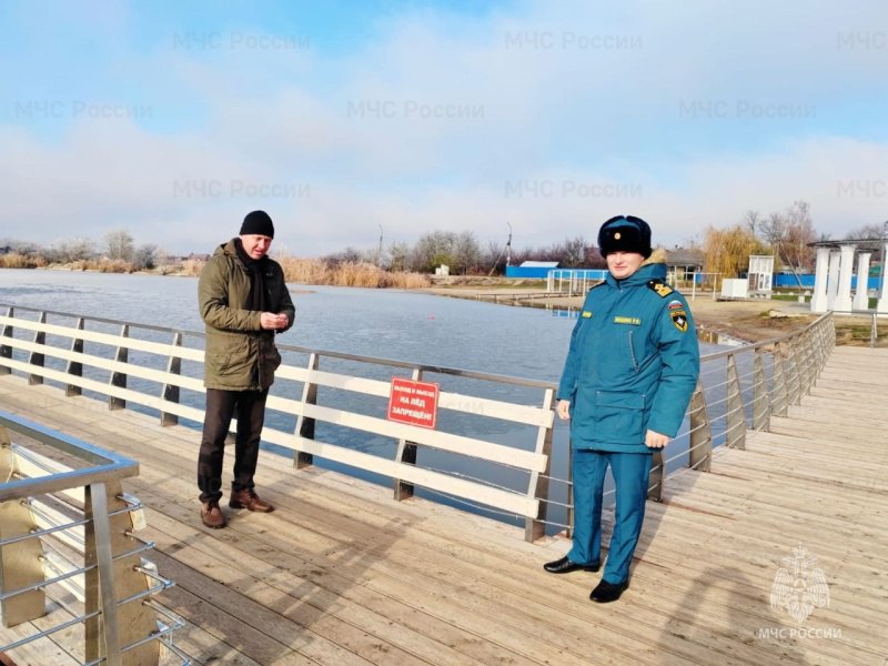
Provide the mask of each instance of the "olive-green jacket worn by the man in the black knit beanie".
MULTIPOLYGON (((265 290, 269 312, 285 313, 290 326, 296 307, 276 261, 265 262, 265 290)), ((264 391, 274 383, 281 354, 274 345, 274 331, 259 324, 261 312, 248 310, 250 274, 238 258, 234 239, 216 248, 201 271, 198 302, 206 324, 204 386, 222 391, 264 391)), ((281 333, 283 331, 280 331, 281 333)))

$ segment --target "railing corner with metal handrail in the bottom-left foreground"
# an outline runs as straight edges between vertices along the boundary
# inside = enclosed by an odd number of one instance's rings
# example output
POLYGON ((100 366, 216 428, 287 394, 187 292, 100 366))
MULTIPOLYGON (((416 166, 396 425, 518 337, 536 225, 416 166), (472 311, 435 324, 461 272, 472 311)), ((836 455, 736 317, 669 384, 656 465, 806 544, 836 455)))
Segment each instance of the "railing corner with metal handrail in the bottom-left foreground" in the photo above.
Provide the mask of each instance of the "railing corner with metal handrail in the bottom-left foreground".
POLYGON ((172 643, 182 620, 151 598, 172 583, 134 534, 142 507, 121 481, 138 474, 132 460, 0 412, 0 615, 9 628, 51 609, 0 654, 82 624, 84 666, 157 664, 161 644, 189 663, 172 643))

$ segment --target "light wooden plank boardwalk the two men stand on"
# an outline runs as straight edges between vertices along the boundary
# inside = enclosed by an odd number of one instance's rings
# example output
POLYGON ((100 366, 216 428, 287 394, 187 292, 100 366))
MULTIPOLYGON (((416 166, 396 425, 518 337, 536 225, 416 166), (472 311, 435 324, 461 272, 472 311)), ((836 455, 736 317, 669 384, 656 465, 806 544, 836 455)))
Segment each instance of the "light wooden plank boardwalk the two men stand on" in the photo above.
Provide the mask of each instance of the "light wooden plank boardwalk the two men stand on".
MULTIPOLYGON (((149 507, 149 558, 176 582, 159 597, 189 623, 175 643, 225 665, 886 664, 887 394, 888 350, 836 349, 769 433, 717 450, 712 473, 680 473, 648 503, 632 587, 597 605, 598 574, 542 569, 563 538, 529 544, 522 528, 396 503, 390 488, 269 453, 259 490, 279 511, 225 507, 230 527, 205 529, 195 431, 0 377, 3 410, 140 462, 125 485, 149 507), (829 593, 801 622, 770 603, 797 547, 829 593)), ((813 579, 794 578, 800 592, 813 579)), ((27 654, 71 663, 46 640, 27 654)))

